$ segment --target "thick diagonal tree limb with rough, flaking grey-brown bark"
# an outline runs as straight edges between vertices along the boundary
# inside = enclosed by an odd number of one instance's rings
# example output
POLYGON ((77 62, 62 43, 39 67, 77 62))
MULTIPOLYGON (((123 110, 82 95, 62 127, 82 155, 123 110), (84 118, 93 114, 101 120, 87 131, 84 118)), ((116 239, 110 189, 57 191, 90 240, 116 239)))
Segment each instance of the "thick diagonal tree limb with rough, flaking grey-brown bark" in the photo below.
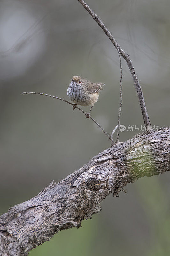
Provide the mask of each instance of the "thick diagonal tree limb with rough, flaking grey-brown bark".
POLYGON ((99 212, 100 202, 112 191, 117 196, 129 182, 169 170, 170 127, 119 142, 1 215, 1 255, 28 255, 59 230, 79 228, 82 220, 99 212))

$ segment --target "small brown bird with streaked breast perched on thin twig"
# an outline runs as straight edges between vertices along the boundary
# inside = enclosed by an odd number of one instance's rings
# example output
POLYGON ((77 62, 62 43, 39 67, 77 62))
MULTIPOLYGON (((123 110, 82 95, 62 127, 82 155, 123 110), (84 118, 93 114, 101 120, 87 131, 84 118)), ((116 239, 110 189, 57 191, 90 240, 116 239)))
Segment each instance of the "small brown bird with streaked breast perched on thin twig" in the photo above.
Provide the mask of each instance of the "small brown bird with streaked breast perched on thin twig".
MULTIPOLYGON (((67 89, 67 95, 74 102, 73 110, 77 105, 89 106, 91 109, 99 97, 99 92, 102 90, 102 83, 93 83, 80 76, 73 76, 71 83, 67 89)), ((90 109, 90 112, 91 112, 90 109)), ((86 114, 86 118, 90 116, 90 112, 86 114)))

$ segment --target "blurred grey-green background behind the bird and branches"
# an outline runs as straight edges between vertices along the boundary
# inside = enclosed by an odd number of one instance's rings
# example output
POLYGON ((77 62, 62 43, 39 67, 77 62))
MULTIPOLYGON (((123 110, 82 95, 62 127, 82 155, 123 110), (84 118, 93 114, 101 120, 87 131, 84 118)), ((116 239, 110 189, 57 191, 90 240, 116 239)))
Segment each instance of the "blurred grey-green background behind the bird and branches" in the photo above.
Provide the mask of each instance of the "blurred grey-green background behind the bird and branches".
MULTIPOLYGON (((169 126, 169 0, 91 0, 120 46, 130 54, 152 125, 169 126)), ((142 114, 123 64, 120 141, 139 131, 142 114)), ((0 1, 0 213, 37 195, 110 147, 98 127, 60 100, 72 76, 106 84, 92 116, 111 133, 117 125, 119 56, 77 0, 0 1)), ((89 107, 82 107, 89 111, 89 107)), ((44 255, 166 256, 170 254, 170 173, 108 196, 82 228, 64 230, 30 252, 44 255)))

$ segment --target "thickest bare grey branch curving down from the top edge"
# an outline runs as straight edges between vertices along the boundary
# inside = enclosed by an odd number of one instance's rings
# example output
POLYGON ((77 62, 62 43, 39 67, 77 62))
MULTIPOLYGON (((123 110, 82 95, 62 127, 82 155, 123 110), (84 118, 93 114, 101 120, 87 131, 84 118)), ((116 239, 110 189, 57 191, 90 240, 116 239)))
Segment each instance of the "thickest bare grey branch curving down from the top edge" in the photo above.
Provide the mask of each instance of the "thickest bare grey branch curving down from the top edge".
POLYGON ((146 110, 146 105, 145 105, 145 101, 144 101, 144 97, 143 97, 143 92, 142 92, 141 86, 139 84, 139 80, 136 76, 135 69, 132 65, 132 61, 130 60, 129 54, 127 54, 126 52, 124 52, 121 49, 120 45, 116 42, 116 40, 114 39, 112 34, 109 32, 109 30, 103 24, 103 22, 98 18, 98 16, 90 9, 90 7, 83 0, 78 0, 78 1, 89 12, 91 17, 97 22, 97 24, 100 26, 100 28, 102 28, 104 33, 109 37, 109 39, 111 40, 112 44, 116 47, 116 49, 119 49, 120 55, 126 60, 126 62, 128 64, 128 67, 130 69, 131 75, 133 77, 136 93, 137 93, 139 103, 140 103, 140 106, 141 106, 141 110, 142 110, 144 124, 145 124, 146 129, 147 129, 147 127, 150 126, 151 123, 150 123, 149 116, 148 116, 148 113, 147 113, 147 110, 146 110))

